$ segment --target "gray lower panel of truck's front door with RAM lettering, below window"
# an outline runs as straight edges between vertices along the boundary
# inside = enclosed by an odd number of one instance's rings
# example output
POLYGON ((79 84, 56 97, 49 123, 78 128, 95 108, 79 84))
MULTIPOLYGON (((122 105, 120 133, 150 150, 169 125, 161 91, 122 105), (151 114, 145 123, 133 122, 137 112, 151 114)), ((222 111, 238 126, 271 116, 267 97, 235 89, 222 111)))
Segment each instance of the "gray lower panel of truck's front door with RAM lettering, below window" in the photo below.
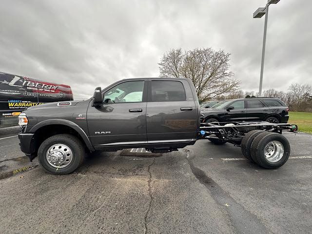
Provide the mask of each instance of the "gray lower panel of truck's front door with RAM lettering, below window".
POLYGON ((110 103, 88 108, 88 129, 92 144, 146 143, 146 102, 110 103), (141 112, 129 112, 140 109, 141 112))

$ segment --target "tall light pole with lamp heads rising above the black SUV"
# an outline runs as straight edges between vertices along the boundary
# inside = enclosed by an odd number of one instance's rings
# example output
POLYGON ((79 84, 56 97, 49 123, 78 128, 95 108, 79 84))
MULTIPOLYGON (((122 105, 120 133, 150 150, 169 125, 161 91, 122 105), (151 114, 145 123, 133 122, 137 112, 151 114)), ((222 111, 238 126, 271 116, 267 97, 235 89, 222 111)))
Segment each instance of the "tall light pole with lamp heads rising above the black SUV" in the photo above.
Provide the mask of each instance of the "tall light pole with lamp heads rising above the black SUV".
POLYGON ((263 45, 262 45, 262 58, 261 58, 261 71, 260 71, 260 83, 259 83, 259 94, 261 97, 262 93, 262 79, 263 79, 263 65, 264 65, 264 53, 265 53, 265 42, 267 38, 267 24, 268 24, 268 14, 269 14, 269 5, 276 4, 279 0, 268 0, 268 3, 265 7, 260 7, 254 12, 253 18, 261 18, 265 15, 264 20, 264 33, 263 33, 263 45))

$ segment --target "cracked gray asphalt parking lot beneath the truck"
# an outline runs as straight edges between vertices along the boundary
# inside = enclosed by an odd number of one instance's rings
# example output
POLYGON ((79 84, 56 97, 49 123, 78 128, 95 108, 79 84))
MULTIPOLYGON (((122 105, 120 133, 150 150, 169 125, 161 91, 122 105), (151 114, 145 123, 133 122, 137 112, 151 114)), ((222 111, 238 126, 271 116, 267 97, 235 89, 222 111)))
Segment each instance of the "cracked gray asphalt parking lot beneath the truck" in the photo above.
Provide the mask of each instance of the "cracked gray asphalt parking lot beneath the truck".
POLYGON ((291 158, 276 170, 200 140, 96 153, 55 176, 23 157, 18 131, 0 129, 0 233, 312 233, 312 135, 285 133, 291 158))

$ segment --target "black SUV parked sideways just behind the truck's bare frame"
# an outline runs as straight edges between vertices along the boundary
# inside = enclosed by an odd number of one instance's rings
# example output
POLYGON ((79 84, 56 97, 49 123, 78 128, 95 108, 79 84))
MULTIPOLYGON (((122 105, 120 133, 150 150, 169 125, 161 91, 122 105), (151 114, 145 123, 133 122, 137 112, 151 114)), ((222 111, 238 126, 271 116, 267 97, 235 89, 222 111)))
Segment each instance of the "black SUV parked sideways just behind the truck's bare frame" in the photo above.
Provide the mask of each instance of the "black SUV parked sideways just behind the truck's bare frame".
POLYGON ((202 122, 267 121, 287 123, 288 107, 278 98, 243 98, 221 101, 200 111, 202 122))

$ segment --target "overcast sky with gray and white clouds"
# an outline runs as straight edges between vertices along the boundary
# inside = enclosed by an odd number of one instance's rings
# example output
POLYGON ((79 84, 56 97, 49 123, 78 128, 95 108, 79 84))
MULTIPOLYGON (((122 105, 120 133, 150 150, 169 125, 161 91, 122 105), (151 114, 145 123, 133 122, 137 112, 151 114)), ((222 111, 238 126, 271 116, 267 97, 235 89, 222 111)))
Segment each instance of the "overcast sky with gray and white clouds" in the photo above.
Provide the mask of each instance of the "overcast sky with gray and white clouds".
MULTIPOLYGON (((266 0, 2 0, 0 71, 68 84, 74 98, 122 78, 158 77, 172 48, 224 49, 258 90, 266 0)), ((312 85, 312 1, 269 9, 263 89, 312 85)))

